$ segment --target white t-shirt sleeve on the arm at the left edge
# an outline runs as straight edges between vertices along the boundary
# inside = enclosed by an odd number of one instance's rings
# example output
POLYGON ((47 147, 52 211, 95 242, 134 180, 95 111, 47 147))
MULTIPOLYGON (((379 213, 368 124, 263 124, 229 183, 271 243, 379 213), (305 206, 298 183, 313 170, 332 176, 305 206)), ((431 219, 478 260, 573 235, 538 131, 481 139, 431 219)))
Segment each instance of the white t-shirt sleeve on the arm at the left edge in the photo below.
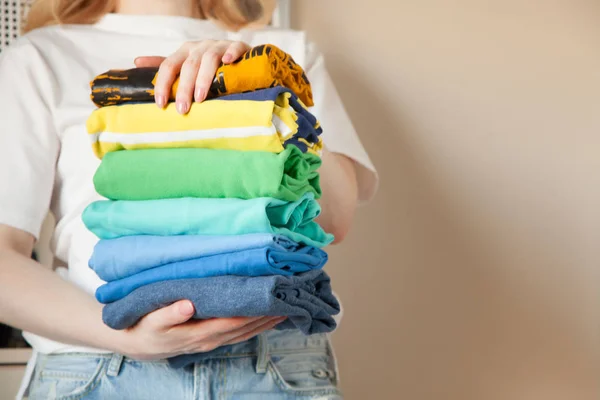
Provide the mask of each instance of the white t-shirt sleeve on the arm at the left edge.
POLYGON ((26 38, 0 55, 0 224, 37 239, 48 212, 60 142, 53 80, 26 38))

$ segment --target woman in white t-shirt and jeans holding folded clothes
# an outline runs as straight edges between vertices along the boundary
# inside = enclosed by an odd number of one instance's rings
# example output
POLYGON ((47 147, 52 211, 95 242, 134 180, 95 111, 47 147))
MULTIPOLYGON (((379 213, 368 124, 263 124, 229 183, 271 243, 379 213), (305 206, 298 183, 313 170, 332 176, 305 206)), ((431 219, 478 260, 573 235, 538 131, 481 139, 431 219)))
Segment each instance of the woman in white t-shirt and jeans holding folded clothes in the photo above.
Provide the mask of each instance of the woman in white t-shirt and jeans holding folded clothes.
POLYGON ((312 111, 325 127, 319 222, 344 238, 357 202, 373 194, 373 167, 303 33, 249 29, 273 9, 274 1, 259 0, 38 0, 28 33, 2 54, 0 321, 28 332, 31 399, 340 396, 326 336, 270 331, 280 320, 266 317, 190 321, 193 305, 185 300, 111 330, 92 295, 102 282, 87 267, 96 239, 81 213, 99 199, 92 184, 98 160, 85 134, 94 109, 88 82, 131 67, 135 56, 152 55, 135 59, 137 66, 160 66, 159 107, 181 76, 176 101, 185 114, 205 99, 221 62, 263 43, 292 54, 307 71, 312 111), (57 220, 52 250, 68 267, 63 278, 29 257, 49 208, 57 220), (163 361, 216 348, 224 349, 220 356, 193 367, 163 361))

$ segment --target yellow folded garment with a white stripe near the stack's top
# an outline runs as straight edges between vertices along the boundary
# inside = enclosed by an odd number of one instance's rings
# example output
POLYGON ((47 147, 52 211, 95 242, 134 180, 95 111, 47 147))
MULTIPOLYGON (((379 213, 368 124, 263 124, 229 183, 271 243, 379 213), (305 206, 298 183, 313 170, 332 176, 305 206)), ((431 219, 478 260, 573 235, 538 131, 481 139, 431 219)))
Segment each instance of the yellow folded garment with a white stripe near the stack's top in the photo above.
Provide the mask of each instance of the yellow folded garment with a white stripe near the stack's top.
MULTIPOLYGON (((280 153, 290 139, 320 155, 322 140, 307 133, 306 120, 299 125, 300 118, 304 116, 290 106, 289 93, 281 93, 275 101, 193 103, 186 115, 179 114, 174 103, 164 109, 152 103, 102 107, 88 119, 87 131, 100 159, 111 151, 160 148, 280 153)), ((318 122, 313 128, 320 131, 318 122)))

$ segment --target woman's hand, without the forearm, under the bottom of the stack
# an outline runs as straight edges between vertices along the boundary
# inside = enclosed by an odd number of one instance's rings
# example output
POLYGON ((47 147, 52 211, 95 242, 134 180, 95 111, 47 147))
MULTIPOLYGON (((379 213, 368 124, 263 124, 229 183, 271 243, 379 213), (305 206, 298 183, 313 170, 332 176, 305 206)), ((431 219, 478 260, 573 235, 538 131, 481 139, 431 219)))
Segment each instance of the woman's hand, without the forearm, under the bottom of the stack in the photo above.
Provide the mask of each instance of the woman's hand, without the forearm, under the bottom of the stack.
POLYGON ((194 306, 181 300, 156 310, 123 333, 119 353, 137 360, 205 353, 240 343, 281 323, 285 317, 236 317, 193 320, 194 306))

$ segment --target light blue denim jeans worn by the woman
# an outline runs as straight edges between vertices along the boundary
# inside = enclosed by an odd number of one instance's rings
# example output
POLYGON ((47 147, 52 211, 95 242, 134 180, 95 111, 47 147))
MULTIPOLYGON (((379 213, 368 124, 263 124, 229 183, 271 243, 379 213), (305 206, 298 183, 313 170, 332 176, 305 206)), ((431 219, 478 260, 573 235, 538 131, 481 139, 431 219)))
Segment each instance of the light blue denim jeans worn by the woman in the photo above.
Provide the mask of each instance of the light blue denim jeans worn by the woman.
POLYGON ((269 331, 181 369, 118 354, 40 355, 29 399, 339 400, 337 382, 325 334, 269 331))

